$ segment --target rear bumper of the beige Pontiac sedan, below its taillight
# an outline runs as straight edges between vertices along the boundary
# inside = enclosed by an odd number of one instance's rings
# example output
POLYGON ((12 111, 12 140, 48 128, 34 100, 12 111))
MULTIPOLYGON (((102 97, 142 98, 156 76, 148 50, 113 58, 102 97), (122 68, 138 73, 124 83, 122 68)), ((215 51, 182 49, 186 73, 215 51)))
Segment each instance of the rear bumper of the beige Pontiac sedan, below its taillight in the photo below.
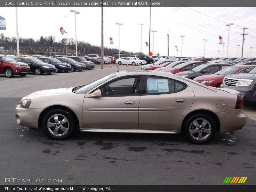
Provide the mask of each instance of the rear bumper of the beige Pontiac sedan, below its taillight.
POLYGON ((233 112, 216 113, 220 120, 220 133, 235 131, 244 127, 247 121, 242 109, 233 112))

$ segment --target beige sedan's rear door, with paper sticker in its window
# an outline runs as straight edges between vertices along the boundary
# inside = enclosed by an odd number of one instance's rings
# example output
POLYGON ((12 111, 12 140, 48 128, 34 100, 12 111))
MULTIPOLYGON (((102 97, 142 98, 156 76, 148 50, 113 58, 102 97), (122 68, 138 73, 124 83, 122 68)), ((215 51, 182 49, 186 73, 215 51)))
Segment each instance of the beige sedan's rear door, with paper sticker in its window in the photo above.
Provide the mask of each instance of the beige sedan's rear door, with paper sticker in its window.
POLYGON ((171 78, 145 76, 139 106, 139 129, 178 130, 191 108, 193 90, 171 78))

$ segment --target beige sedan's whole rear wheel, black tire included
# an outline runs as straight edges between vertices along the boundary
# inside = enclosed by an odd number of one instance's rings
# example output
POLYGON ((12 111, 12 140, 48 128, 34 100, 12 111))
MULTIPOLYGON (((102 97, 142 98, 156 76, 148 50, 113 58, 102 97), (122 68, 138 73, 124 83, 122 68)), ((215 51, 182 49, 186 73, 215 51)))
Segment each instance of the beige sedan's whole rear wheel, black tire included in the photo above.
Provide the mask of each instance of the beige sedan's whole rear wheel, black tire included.
POLYGON ((185 135, 187 136, 188 140, 190 140, 194 144, 204 144, 207 143, 214 137, 217 130, 216 123, 212 119, 211 116, 206 114, 196 114, 189 117, 184 126, 182 127, 182 131, 184 131, 185 135), (197 120, 197 127, 192 122, 197 120), (206 121, 205 121, 206 120, 206 121), (207 122, 204 127, 200 127, 202 123, 207 122), (204 130, 205 129, 205 130, 204 130), (206 133, 205 131, 210 130, 210 133, 206 133), (191 132, 195 132, 194 134, 190 134, 191 132), (198 134, 197 134, 198 133, 198 134), (202 134, 202 139, 199 138, 199 134, 202 134), (197 137, 197 138, 196 138, 197 137))

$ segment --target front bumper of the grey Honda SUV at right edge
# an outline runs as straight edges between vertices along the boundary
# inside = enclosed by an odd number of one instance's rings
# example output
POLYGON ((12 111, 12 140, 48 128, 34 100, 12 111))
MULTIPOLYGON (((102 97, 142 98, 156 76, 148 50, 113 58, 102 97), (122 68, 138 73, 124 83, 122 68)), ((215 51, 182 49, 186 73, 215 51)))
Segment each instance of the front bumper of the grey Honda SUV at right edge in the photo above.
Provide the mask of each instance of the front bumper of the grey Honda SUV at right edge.
POLYGON ((244 95, 244 100, 245 101, 252 101, 252 102, 256 101, 256 85, 254 85, 254 88, 253 88, 251 86, 235 86, 235 87, 230 87, 230 86, 221 84, 220 87, 239 91, 240 94, 244 95))

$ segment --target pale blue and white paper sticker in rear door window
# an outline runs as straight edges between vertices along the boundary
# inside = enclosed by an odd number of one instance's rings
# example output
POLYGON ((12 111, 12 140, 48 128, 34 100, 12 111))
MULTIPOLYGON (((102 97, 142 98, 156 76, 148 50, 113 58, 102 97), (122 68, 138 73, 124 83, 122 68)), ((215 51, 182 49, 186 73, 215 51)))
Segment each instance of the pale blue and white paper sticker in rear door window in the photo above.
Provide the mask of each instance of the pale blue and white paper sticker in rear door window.
POLYGON ((169 92, 167 79, 147 79, 148 93, 165 93, 169 92))

